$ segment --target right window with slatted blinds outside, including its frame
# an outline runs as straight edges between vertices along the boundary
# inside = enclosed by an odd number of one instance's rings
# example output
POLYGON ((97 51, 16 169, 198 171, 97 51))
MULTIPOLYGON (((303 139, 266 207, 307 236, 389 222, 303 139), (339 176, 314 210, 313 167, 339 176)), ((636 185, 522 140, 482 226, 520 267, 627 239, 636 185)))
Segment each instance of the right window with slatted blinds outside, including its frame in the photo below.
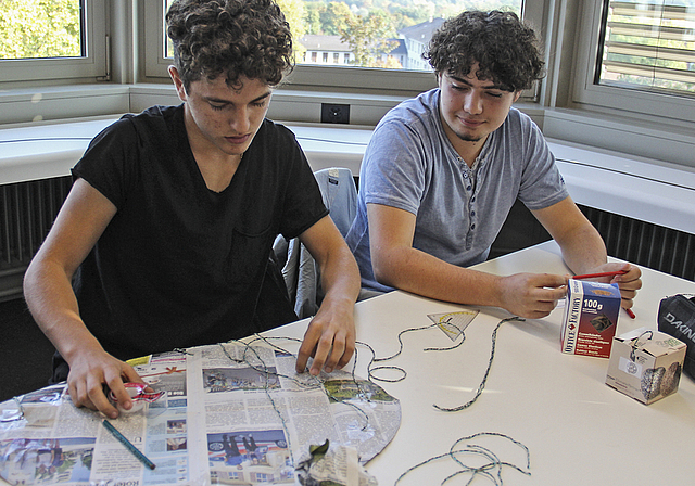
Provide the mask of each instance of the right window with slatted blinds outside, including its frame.
POLYGON ((589 0, 572 101, 695 122, 695 1, 589 0))

